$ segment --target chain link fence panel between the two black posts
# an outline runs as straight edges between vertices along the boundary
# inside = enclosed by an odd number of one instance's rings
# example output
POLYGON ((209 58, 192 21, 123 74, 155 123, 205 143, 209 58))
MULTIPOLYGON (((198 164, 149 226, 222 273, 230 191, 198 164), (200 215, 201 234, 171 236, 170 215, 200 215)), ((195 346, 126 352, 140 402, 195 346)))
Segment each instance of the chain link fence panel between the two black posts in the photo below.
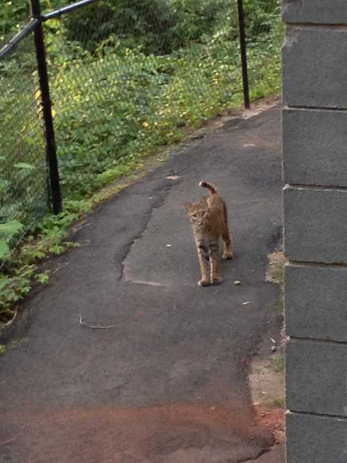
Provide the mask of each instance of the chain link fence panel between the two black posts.
POLYGON ((230 2, 190 3, 100 1, 44 24, 65 197, 92 194, 239 99, 237 24, 213 39, 230 2))

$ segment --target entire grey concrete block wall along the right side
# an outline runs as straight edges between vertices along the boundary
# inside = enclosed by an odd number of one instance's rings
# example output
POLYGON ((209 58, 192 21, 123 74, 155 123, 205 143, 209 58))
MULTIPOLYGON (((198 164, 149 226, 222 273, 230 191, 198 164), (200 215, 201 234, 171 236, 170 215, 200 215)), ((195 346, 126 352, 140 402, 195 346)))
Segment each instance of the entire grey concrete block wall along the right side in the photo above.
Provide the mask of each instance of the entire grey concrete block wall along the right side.
POLYGON ((347 462, 347 0, 282 0, 287 463, 347 462))

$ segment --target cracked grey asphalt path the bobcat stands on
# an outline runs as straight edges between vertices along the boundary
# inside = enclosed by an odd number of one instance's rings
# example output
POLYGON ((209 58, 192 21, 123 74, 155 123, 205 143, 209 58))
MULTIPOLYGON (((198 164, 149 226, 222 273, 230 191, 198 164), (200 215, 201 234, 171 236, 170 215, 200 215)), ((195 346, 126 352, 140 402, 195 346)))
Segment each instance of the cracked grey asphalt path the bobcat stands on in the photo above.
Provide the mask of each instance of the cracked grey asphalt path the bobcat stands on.
POLYGON ((273 444, 247 359, 278 298, 280 155, 279 108, 226 121, 87 217, 2 333, 1 463, 236 463, 273 444), (203 288, 183 208, 200 180, 228 204, 235 253, 203 288))

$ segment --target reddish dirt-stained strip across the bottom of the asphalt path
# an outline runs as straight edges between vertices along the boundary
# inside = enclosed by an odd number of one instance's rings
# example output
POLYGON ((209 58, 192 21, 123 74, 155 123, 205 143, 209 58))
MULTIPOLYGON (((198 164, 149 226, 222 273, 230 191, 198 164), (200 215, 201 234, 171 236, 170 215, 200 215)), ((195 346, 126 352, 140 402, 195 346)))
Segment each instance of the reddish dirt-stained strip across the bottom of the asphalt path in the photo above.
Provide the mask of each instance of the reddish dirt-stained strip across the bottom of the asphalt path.
MULTIPOLYGON (((8 412, 0 456, 9 462, 166 462, 180 449, 274 444, 276 413, 256 418, 237 407, 162 405, 142 409, 8 412), (8 441, 8 442, 6 442, 8 441)), ((1 460, 2 461, 2 460, 1 460)), ((176 460, 175 460, 176 461, 176 460)), ((200 462, 189 457, 185 462, 200 462)), ((221 460, 216 460, 221 461, 221 460)), ((226 460, 223 460, 226 461, 226 460)), ((234 462, 237 460, 227 460, 234 462)))

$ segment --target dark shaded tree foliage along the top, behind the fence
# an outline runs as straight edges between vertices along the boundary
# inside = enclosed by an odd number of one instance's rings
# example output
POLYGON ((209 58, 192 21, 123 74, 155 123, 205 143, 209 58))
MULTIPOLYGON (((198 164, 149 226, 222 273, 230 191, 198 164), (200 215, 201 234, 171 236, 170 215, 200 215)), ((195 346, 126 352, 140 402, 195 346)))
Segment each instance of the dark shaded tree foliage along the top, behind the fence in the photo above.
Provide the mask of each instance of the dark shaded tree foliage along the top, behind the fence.
MULTIPOLYGON (((68 0, 41 0, 42 10, 61 8, 68 0)), ((92 51, 115 35, 145 53, 167 54, 189 42, 206 40, 221 26, 230 39, 237 37, 236 0, 100 0, 67 17, 67 40, 85 42, 92 51)), ((248 38, 269 32, 278 0, 244 0, 248 38), (265 28, 264 28, 265 27, 265 28)), ((29 1, 5 0, 0 8, 2 37, 15 31, 30 17, 29 1)))

